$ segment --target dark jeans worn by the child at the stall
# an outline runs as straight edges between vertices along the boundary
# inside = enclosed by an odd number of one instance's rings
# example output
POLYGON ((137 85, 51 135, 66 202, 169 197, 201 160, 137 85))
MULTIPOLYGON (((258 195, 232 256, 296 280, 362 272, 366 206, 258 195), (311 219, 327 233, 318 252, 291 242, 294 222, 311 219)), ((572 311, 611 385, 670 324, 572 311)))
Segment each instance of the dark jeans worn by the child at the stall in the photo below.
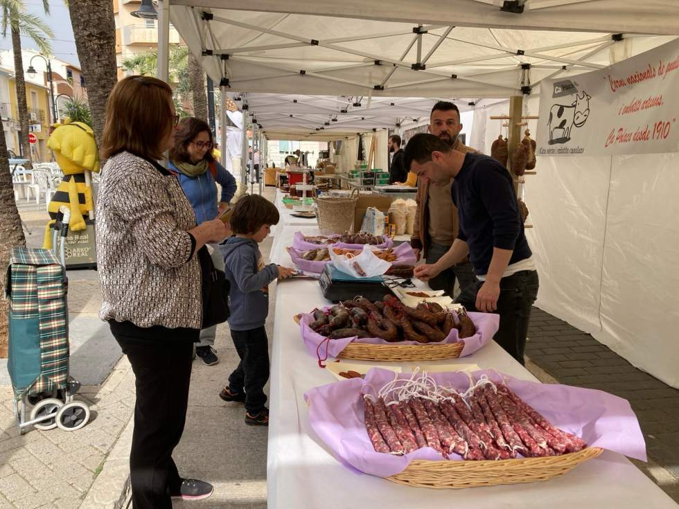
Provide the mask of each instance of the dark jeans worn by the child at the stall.
POLYGON ((251 416, 264 409, 267 397, 264 386, 269 379, 269 341, 264 327, 231 330, 240 363, 229 376, 229 389, 245 391, 245 410, 251 416))

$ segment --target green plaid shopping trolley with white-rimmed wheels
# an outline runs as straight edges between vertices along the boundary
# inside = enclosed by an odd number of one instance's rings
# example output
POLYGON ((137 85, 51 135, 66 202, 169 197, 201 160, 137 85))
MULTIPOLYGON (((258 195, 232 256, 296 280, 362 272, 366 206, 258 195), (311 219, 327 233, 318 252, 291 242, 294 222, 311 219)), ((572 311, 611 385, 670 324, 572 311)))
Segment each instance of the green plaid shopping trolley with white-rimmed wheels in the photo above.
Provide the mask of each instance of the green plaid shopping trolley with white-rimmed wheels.
POLYGON ((5 282, 8 371, 21 433, 31 425, 73 431, 89 419, 89 407, 73 400, 80 384, 69 377, 67 288, 65 269, 52 251, 12 248, 5 282))

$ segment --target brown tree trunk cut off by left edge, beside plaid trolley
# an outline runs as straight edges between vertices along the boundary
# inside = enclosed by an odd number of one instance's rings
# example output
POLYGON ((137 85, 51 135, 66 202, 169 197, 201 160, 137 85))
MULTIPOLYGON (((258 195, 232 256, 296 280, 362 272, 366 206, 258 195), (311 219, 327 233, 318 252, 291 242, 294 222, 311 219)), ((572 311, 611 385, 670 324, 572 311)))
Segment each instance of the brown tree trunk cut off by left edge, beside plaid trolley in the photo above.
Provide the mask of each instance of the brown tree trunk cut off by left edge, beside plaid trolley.
MULTIPOLYGON (((0 289, 5 294, 5 269, 10 261, 12 246, 25 246, 26 238, 21 227, 21 217, 14 199, 10 163, 7 160, 7 143, 2 135, 4 128, 0 118, 0 289)), ((7 357, 8 328, 7 301, 0 299, 0 357, 7 357)))

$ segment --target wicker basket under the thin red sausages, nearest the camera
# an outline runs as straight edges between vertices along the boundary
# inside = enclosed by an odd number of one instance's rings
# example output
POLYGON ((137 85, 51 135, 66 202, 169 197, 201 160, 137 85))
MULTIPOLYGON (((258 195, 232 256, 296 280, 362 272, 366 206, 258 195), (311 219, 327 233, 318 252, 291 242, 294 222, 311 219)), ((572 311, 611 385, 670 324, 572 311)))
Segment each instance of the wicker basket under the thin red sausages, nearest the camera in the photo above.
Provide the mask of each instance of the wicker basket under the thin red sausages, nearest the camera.
POLYGON ((415 460, 403 472, 385 479, 417 488, 439 489, 532 483, 563 475, 579 463, 596 458, 599 454, 599 447, 587 447, 580 452, 546 458, 498 461, 415 460))

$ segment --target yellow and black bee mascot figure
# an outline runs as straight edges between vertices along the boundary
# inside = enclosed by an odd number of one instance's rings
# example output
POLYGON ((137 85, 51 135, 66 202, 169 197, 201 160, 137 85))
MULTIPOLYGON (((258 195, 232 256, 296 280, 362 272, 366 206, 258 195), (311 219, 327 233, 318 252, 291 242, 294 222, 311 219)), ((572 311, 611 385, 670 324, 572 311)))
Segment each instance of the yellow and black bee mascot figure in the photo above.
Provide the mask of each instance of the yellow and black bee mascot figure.
POLYGON ((51 226, 57 218, 60 206, 66 205, 71 211, 70 231, 87 228, 84 216, 89 211, 94 211, 94 200, 92 190, 85 181, 85 170, 99 171, 99 155, 91 127, 69 119, 63 124, 55 125, 47 146, 54 152, 59 168, 64 172, 64 179, 47 208, 51 221, 45 229, 43 247, 52 249, 51 226))

